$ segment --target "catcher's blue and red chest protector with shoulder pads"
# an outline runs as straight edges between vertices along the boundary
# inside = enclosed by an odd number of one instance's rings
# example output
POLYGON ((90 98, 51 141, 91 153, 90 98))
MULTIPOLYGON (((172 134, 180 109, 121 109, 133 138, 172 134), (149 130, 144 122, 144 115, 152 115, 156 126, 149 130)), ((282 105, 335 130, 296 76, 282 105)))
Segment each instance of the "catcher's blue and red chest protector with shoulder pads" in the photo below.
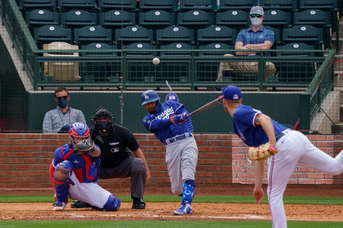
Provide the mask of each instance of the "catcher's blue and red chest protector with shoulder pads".
MULTIPOLYGON (((95 146, 100 151, 99 146, 95 146)), ((98 179, 100 156, 94 158, 93 156, 90 156, 88 152, 77 155, 73 153, 73 149, 66 144, 55 151, 55 158, 52 161, 52 164, 56 167, 58 163, 64 160, 71 161, 73 164, 73 171, 80 183, 96 183, 98 179)))

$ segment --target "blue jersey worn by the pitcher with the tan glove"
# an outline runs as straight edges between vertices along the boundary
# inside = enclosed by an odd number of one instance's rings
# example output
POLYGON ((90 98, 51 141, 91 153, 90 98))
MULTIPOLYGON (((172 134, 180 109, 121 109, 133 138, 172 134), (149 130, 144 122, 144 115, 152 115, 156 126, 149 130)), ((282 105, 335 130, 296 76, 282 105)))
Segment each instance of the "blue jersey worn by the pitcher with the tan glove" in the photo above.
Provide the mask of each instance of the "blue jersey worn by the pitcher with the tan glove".
MULTIPOLYGON (((269 142, 267 134, 261 126, 255 125, 255 119, 260 110, 247 105, 239 105, 233 115, 233 130, 248 146, 259 146, 269 142)), ((287 128, 278 122, 271 120, 274 126, 275 136, 287 128)))

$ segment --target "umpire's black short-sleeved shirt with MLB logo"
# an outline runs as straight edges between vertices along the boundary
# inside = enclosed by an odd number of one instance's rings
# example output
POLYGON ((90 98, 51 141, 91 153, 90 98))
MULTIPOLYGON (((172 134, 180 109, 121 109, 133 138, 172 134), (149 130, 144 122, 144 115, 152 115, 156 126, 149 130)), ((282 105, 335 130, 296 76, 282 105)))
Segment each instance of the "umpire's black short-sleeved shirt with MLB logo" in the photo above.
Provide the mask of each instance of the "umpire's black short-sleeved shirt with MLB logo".
POLYGON ((125 158, 131 155, 131 151, 138 150, 139 145, 133 133, 116 123, 112 123, 112 128, 107 136, 100 136, 94 126, 90 129, 91 139, 100 147, 100 166, 104 168, 115 167, 125 158), (129 148, 131 151, 128 151, 129 148))

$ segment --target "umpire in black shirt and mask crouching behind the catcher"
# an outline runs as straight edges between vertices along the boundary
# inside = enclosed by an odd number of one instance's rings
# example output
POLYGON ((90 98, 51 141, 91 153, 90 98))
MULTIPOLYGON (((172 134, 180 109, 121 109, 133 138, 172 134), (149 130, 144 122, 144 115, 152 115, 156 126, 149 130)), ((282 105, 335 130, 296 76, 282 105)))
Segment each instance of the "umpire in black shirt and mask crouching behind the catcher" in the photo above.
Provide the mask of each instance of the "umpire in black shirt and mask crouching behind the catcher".
MULTIPOLYGON (((102 107, 95 110, 91 118, 94 125, 90 129, 91 139, 101 150, 98 178, 131 177, 132 209, 145 209, 143 195, 145 185, 150 178, 149 169, 133 133, 114 123, 114 119, 115 116, 102 107)), ((74 201, 70 206, 80 208, 91 205, 74 201)))

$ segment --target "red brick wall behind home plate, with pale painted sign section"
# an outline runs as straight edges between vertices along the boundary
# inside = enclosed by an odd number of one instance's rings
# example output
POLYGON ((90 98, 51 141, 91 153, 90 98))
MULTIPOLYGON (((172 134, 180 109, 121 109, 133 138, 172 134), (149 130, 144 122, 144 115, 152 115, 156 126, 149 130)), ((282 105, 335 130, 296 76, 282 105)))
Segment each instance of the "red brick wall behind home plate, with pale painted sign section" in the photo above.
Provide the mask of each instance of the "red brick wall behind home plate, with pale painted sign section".
MULTIPOLYGON (((152 134, 135 134, 147 160, 149 185, 169 186, 165 146, 152 134)), ((246 167, 247 147, 236 135, 195 135, 199 148, 197 184, 253 184, 253 167, 246 167)), ((0 188, 50 188, 49 166, 54 151, 68 142, 67 134, 0 134, 0 188)), ((312 135, 314 145, 335 156, 343 148, 343 136, 312 135)), ((299 168, 294 175, 310 182, 290 184, 342 185, 343 175, 328 176, 299 168), (313 181, 312 181, 313 180, 313 181)), ((99 180, 104 188, 129 188, 130 178, 99 180)))

